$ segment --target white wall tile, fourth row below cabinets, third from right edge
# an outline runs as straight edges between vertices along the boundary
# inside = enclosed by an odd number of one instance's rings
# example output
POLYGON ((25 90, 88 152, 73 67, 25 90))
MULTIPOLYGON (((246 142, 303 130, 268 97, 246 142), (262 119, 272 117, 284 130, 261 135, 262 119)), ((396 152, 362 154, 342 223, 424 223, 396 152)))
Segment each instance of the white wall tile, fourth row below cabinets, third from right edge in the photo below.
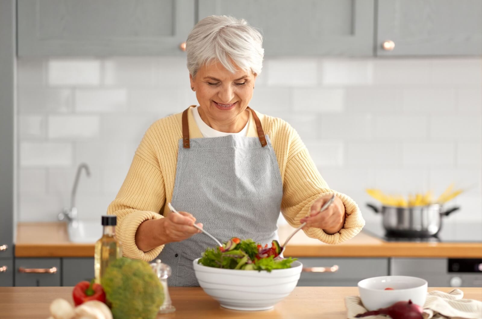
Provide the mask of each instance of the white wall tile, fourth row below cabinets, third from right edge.
POLYGON ((397 168, 402 164, 400 142, 346 142, 346 167, 397 168))

